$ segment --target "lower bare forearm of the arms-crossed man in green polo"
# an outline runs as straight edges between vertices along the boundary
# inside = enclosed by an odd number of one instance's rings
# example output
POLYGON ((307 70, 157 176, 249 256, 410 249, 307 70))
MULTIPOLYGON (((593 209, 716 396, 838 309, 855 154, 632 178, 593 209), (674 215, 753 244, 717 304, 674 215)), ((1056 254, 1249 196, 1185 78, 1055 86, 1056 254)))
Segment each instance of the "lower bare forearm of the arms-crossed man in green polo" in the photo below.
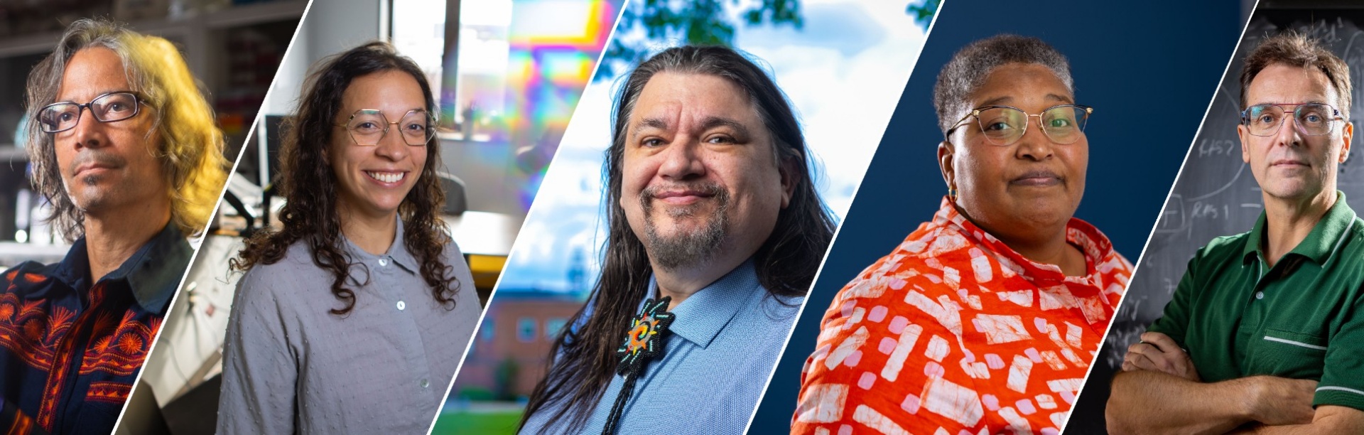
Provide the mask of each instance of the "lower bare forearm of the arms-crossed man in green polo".
POLYGON ((1251 421, 1241 379, 1200 383, 1155 371, 1128 371, 1113 379, 1110 434, 1225 434, 1251 421))

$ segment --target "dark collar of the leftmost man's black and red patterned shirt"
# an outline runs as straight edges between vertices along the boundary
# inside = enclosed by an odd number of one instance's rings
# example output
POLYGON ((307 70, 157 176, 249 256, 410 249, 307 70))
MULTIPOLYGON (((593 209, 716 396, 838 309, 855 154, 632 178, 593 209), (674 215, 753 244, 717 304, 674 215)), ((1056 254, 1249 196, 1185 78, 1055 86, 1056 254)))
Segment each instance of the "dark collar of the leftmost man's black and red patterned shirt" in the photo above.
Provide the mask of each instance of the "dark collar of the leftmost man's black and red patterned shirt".
MULTIPOLYGON (((59 263, 53 277, 72 289, 89 289, 90 258, 86 250, 86 237, 78 239, 59 263)), ((125 281, 142 310, 164 314, 166 303, 175 296, 176 286, 190 266, 192 254, 194 250, 184 240, 180 228, 173 221, 166 222, 160 233, 101 281, 125 281)))

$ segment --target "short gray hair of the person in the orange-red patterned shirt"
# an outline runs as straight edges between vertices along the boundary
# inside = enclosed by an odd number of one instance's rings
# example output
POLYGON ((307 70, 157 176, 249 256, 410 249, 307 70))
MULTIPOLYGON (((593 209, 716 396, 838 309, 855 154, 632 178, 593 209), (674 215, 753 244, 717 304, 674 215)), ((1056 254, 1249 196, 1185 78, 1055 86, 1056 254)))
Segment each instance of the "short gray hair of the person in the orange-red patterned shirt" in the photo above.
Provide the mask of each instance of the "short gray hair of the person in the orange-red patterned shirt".
POLYGON ((1041 64, 1052 70, 1067 90, 1075 93, 1071 63, 1042 40, 1016 34, 979 40, 952 55, 952 60, 943 65, 937 85, 933 86, 933 108, 937 109, 938 127, 944 135, 963 112, 971 109, 971 94, 985 85, 985 78, 994 68, 1011 63, 1041 64))

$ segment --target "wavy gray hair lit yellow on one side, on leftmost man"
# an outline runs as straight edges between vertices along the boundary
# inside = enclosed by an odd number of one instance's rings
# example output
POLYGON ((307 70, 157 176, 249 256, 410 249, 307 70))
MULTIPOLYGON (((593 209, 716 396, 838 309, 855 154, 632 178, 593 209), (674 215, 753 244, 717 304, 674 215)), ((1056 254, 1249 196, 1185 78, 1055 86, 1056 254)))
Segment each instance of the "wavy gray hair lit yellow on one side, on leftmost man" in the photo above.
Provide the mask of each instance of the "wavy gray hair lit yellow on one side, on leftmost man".
POLYGON ((142 116, 153 117, 151 131, 161 138, 151 153, 169 187, 170 222, 180 233, 198 236, 228 181, 229 164, 222 157, 222 131, 213 108, 170 41, 105 19, 72 22, 52 55, 29 74, 25 149, 34 165, 34 187, 52 202, 48 221, 67 241, 85 236, 85 211, 67 195, 52 134, 44 132, 37 119, 44 106, 56 102, 71 57, 87 48, 110 49, 123 60, 128 90, 147 104, 150 110, 142 116))

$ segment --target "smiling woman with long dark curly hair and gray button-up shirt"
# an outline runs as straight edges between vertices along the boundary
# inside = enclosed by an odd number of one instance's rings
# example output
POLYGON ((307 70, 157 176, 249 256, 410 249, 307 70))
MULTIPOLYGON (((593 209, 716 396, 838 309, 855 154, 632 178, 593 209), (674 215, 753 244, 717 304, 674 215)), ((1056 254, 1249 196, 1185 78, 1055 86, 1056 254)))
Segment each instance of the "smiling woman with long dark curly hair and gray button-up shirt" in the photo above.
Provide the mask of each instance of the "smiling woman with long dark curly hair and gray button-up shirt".
POLYGON ((435 102, 383 42, 314 67, 282 125, 282 228, 246 241, 218 432, 424 432, 479 318, 438 220, 435 102))

